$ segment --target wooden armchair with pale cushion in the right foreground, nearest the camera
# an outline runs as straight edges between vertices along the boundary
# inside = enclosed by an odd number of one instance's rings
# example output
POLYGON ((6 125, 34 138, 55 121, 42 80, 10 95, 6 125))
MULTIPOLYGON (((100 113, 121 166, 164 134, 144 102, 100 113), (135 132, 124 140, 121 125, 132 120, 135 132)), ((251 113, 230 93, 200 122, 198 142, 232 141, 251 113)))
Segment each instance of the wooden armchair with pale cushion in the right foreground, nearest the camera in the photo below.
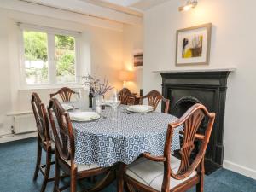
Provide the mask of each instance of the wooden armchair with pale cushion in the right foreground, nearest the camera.
MULTIPOLYGON (((125 171, 124 180, 128 192, 183 192, 196 185, 197 192, 203 192, 204 186, 204 156, 212 132, 215 113, 208 113, 207 108, 195 104, 176 122, 169 124, 166 132, 166 143, 163 156, 152 156, 144 153, 125 171), (197 133, 202 120, 207 119, 204 134, 197 133), (171 155, 172 135, 175 129, 183 125, 183 136, 180 160, 171 155), (195 140, 201 141, 195 159, 191 153, 195 148, 195 140)), ((205 121, 204 121, 205 122, 205 121)))

